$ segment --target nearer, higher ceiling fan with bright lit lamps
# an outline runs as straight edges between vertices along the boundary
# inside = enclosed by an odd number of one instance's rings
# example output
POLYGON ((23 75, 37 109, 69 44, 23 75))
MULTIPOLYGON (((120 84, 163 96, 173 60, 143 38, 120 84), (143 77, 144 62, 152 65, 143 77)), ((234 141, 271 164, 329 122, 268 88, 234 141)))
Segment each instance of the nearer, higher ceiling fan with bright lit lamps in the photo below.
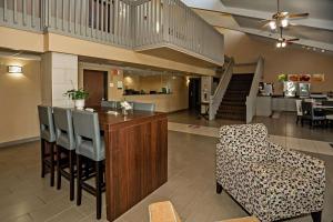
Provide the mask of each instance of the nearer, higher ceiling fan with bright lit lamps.
POLYGON ((290 13, 286 11, 280 11, 280 0, 278 0, 278 11, 272 16, 272 19, 263 20, 265 24, 263 27, 270 26, 272 31, 278 28, 286 28, 290 24, 291 19, 303 19, 309 17, 310 13, 290 13))

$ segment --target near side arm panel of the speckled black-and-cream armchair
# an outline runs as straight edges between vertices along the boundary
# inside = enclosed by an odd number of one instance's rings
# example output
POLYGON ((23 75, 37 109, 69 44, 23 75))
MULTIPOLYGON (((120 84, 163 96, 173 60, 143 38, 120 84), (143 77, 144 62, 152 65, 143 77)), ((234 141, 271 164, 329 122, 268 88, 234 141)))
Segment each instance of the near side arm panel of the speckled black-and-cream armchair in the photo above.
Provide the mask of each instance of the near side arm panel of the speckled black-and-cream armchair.
POLYGON ((253 173, 254 214, 265 212, 265 216, 271 216, 273 221, 315 212, 322 205, 322 191, 316 189, 317 184, 302 168, 261 162, 254 164, 253 173))

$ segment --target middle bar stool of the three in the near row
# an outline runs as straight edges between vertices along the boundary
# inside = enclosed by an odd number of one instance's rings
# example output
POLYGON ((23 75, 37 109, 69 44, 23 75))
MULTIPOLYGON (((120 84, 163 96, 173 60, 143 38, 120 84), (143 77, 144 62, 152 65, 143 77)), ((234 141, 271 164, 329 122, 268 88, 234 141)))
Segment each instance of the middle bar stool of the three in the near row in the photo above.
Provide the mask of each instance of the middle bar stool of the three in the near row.
POLYGON ((75 140, 71 109, 53 108, 57 143, 57 189, 61 176, 70 182, 70 200, 74 200, 75 140), (64 158, 63 158, 64 154, 64 158), (64 169, 69 168, 69 172, 64 169))

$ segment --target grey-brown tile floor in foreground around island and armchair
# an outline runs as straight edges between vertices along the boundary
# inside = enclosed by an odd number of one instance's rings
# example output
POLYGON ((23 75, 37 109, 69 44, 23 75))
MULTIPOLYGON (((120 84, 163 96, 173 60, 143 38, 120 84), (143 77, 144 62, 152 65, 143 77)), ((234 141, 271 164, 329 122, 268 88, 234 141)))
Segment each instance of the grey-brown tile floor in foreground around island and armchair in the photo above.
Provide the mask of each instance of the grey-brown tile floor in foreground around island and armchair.
MULTIPOLYGON (((172 125, 172 124, 171 124, 172 125)), ((133 206, 117 222, 148 222, 148 205, 171 200, 184 222, 214 222, 246 213, 225 193, 215 194, 216 138, 169 131, 169 181, 133 206)), ((323 222, 333 220, 333 157, 310 153, 326 161, 327 181, 323 222)), ((82 205, 69 201, 68 183, 57 191, 40 178, 39 142, 0 149, 0 221, 90 222, 94 199, 84 194, 82 205)), ((103 219, 105 220, 105 211, 103 219)), ((311 222, 302 216, 293 222, 311 222)))

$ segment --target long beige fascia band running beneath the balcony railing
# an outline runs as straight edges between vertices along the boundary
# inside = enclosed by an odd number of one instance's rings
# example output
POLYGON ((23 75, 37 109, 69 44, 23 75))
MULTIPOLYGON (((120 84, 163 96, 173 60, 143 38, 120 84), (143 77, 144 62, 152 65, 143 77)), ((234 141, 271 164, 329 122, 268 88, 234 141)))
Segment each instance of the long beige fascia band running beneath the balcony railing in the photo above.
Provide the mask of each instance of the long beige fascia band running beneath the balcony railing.
POLYGON ((189 73, 214 75, 214 69, 176 62, 120 47, 101 44, 56 33, 36 33, 0 27, 0 48, 34 52, 62 52, 112 61, 145 64, 189 73))

